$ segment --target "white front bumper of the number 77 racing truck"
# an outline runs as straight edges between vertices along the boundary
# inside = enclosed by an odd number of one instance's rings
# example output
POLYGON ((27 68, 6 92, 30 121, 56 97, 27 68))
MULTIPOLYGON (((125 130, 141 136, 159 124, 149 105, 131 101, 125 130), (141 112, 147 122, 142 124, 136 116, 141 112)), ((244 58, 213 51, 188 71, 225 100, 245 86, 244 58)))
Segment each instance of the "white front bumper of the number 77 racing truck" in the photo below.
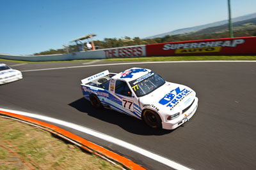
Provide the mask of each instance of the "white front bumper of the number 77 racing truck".
POLYGON ((162 122, 163 129, 170 129, 170 130, 175 129, 180 125, 184 124, 185 122, 187 122, 188 119, 193 117, 193 115, 195 114, 197 106, 198 106, 198 98, 195 97, 195 101, 193 105, 189 108, 189 110, 186 111, 186 113, 182 113, 182 115, 180 115, 179 117, 173 120, 162 122), (188 119, 186 118, 186 115, 188 119))

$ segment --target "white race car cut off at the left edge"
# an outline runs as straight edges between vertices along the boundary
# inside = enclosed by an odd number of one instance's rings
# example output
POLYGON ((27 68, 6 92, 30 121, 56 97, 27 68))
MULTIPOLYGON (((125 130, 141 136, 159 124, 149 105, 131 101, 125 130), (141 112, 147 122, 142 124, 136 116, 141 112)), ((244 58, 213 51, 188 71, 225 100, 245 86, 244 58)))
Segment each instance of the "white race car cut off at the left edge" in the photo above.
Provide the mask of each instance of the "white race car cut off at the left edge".
POLYGON ((20 79, 22 79, 22 73, 19 70, 0 63, 0 85, 20 79))

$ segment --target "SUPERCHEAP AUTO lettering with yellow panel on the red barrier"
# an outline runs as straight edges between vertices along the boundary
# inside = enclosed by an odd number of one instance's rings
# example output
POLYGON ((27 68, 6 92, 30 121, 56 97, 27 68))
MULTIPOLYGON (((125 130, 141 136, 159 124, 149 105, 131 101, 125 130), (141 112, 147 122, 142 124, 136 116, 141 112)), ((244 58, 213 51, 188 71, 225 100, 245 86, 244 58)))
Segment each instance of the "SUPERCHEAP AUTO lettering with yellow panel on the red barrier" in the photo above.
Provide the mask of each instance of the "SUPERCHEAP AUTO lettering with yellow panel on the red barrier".
POLYGON ((175 53, 220 52, 222 47, 236 47, 244 42, 244 39, 233 39, 227 41, 205 41, 200 43, 172 43, 165 44, 163 50, 175 50, 175 53))

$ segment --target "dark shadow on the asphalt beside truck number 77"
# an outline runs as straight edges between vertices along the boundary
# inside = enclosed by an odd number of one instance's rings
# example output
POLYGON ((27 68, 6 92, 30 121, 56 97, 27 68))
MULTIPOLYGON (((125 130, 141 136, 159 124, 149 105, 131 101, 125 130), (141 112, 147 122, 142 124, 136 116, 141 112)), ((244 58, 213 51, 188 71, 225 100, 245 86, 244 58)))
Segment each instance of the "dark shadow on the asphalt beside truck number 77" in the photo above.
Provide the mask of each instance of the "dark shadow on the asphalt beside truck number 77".
POLYGON ((83 97, 68 105, 76 108, 78 111, 88 114, 90 117, 98 118, 99 120, 108 122, 110 124, 118 125, 119 127, 122 127, 122 129, 125 129, 125 131, 131 132, 133 134, 145 136, 161 136, 173 132, 172 130, 166 129, 152 129, 138 118, 119 113, 115 110, 108 110, 106 108, 93 108, 93 106, 90 104, 90 101, 87 101, 83 97))

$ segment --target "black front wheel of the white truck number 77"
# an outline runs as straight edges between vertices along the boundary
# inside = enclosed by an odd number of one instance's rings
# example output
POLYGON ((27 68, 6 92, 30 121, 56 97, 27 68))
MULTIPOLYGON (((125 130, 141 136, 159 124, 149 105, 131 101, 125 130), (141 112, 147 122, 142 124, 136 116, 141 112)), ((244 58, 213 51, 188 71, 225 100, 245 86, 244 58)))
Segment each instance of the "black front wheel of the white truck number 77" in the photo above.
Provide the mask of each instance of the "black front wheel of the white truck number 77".
POLYGON ((155 128, 155 129, 162 128, 162 120, 155 111, 144 110, 143 111, 143 120, 147 125, 149 125, 152 128, 155 128))

